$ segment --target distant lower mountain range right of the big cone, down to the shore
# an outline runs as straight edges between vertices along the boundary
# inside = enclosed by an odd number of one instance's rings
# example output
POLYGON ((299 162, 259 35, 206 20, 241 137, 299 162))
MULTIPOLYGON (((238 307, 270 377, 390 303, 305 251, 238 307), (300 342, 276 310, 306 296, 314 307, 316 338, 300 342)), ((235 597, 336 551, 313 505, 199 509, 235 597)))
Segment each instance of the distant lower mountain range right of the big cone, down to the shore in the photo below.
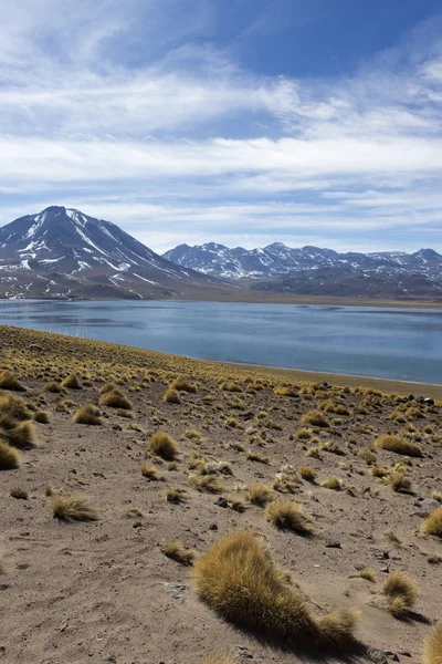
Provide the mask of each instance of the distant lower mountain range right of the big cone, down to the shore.
POLYGON ((164 258, 206 274, 234 280, 253 291, 368 297, 442 298, 442 256, 381 251, 339 253, 333 249, 292 249, 273 242, 262 249, 229 249, 209 242, 179 245, 164 258))

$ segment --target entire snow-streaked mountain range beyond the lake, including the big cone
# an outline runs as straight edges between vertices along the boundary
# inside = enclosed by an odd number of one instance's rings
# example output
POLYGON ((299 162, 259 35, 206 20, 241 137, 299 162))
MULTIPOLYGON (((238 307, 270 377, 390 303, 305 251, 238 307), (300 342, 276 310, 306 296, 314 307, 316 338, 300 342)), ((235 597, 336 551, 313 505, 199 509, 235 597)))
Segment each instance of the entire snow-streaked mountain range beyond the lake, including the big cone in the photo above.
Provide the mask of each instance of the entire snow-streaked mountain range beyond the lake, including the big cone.
POLYGON ((159 256, 115 224, 51 206, 0 228, 0 297, 281 299, 334 295, 442 301, 432 249, 339 253, 180 245, 159 256))

